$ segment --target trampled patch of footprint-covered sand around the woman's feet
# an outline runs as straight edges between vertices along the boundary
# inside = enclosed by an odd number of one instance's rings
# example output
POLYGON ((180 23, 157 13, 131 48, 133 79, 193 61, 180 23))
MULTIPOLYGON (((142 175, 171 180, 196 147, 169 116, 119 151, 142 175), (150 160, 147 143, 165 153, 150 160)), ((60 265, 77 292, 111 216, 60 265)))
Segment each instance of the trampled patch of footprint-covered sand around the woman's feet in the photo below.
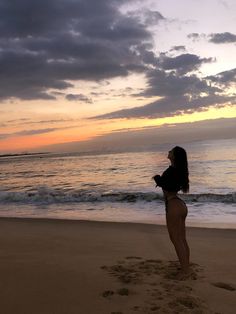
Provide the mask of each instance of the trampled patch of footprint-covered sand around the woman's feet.
MULTIPOLYGON (((133 293, 144 293, 143 304, 133 305, 133 312, 139 314, 208 313, 205 303, 193 294, 189 282, 201 278, 202 269, 199 265, 191 265, 193 276, 187 278, 184 283, 176 278, 176 274, 179 273, 179 263, 176 261, 145 260, 137 256, 127 256, 117 263, 101 268, 129 287, 129 289, 112 291, 114 294, 129 298, 133 293), (130 287, 133 293, 130 293, 130 287)), ((104 293, 104 297, 112 299, 109 290, 104 293)))

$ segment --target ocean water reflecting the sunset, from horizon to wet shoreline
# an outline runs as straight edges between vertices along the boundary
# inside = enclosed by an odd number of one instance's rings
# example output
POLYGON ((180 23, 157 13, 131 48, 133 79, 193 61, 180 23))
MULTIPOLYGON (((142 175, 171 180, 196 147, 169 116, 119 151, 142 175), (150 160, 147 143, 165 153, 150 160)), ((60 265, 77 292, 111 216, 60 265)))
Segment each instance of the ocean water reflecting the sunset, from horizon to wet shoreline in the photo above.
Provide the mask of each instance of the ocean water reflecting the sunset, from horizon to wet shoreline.
MULTIPOLYGON (((190 172, 190 192, 181 194, 187 225, 236 228, 236 139, 181 146, 190 172)), ((1 157, 0 216, 164 224, 152 177, 169 166, 172 147, 1 157)))

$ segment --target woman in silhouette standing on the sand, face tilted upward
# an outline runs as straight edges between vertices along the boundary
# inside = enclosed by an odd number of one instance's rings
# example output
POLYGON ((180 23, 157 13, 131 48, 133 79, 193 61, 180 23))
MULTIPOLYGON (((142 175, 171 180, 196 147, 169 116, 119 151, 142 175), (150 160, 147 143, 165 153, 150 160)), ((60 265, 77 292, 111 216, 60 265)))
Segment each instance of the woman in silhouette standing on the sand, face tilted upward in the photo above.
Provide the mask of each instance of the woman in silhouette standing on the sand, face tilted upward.
POLYGON ((180 265, 181 276, 189 273, 190 250, 186 241, 185 219, 188 209, 184 201, 179 198, 178 192, 189 191, 188 161, 186 151, 179 146, 169 151, 168 159, 171 162, 162 176, 156 175, 153 179, 156 186, 160 186, 164 193, 166 204, 166 222, 171 242, 174 244, 180 265))

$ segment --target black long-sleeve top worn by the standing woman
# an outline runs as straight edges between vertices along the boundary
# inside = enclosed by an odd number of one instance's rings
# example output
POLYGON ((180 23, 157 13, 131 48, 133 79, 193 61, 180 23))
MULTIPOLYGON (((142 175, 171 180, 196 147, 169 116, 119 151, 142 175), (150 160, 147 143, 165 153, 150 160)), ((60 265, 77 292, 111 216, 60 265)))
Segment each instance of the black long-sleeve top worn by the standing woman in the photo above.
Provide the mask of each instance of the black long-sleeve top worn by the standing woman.
POLYGON ((179 192, 181 182, 176 168, 169 166, 163 174, 154 176, 156 186, 160 186, 164 191, 179 192))

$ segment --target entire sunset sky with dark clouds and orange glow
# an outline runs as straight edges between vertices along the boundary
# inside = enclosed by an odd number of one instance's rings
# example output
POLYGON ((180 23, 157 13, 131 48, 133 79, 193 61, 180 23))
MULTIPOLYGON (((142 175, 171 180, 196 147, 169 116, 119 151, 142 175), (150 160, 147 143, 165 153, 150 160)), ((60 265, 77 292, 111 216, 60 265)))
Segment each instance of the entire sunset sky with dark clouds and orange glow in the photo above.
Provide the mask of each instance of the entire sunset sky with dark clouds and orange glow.
POLYGON ((0 153, 232 126, 235 12, 234 0, 0 0, 0 153))

